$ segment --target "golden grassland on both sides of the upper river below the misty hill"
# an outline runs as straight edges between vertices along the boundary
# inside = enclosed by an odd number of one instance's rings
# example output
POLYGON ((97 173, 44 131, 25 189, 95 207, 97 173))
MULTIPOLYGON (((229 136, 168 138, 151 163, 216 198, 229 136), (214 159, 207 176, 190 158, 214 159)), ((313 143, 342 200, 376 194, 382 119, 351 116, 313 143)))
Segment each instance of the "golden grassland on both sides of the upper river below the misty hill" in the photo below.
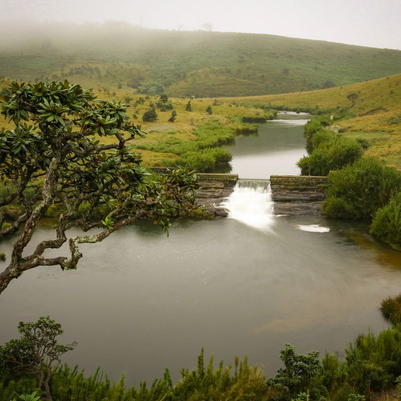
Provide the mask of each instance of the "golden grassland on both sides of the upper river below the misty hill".
MULTIPOLYGON (((0 88, 6 87, 11 81, 0 81, 0 88)), ((77 81, 78 77, 77 77, 77 81)), ((81 82, 80 82, 81 83, 81 82)), ((84 81, 83 85, 88 84, 84 81)), ((89 85, 88 85, 89 86, 89 85)), ((100 86, 97 83, 96 92, 100 86)), ((101 88, 100 88, 101 89, 101 88)), ((156 109, 158 119, 153 123, 141 122, 141 117, 149 104, 157 104, 158 95, 146 96, 135 93, 133 88, 110 87, 106 91, 101 89, 99 98, 111 99, 116 97, 122 101, 129 98, 128 113, 132 121, 142 124, 142 129, 148 132, 145 138, 137 138, 134 143, 140 148, 144 163, 149 166, 158 165, 164 159, 174 159, 180 152, 173 151, 171 147, 162 148, 161 142, 196 141, 195 130, 204 126, 210 119, 218 119, 225 127, 235 130, 238 134, 247 131, 255 132, 252 124, 244 124, 242 117, 261 118, 269 114, 263 107, 275 106, 277 108, 310 110, 321 112, 330 109, 334 125, 343 131, 342 135, 351 138, 362 137, 368 140, 369 148, 366 155, 377 157, 386 164, 401 169, 401 75, 393 75, 368 82, 361 82, 348 86, 329 88, 310 92, 297 92, 281 95, 263 95, 248 97, 227 97, 190 99, 192 111, 186 111, 188 98, 170 98, 177 112, 173 123, 168 122, 171 110, 161 112, 156 109), (347 99, 351 92, 358 94, 355 104, 347 99), (147 97, 145 99, 145 97, 147 97), (137 100, 144 98, 144 103, 137 100), (207 106, 213 108, 213 115, 206 112, 207 106), (344 113, 344 109, 348 109, 344 113), (345 117, 344 117, 345 116, 345 117), (352 117, 353 116, 353 117, 352 117), (157 148, 151 149, 155 145, 157 148)), ((0 122, 0 127, 12 129, 14 126, 6 120, 0 122)), ((112 138, 102 139, 112 141, 112 138)), ((181 152, 182 153, 182 152, 181 152)))

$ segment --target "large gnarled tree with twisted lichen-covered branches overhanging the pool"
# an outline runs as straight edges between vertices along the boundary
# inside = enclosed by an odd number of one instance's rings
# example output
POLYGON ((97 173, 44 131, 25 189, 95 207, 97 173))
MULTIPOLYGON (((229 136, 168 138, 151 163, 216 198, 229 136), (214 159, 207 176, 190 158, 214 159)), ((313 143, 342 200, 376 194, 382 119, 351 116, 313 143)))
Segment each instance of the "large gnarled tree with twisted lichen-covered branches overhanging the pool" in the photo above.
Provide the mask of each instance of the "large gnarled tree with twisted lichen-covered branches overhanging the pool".
POLYGON ((140 166, 140 155, 127 141, 144 135, 129 121, 127 105, 97 101, 91 91, 68 81, 14 82, 3 103, 2 114, 16 127, 0 132, 0 180, 6 193, 0 198, 0 240, 19 229, 20 235, 9 266, 0 273, 0 293, 37 266, 76 269, 83 256, 80 244, 101 242, 138 219, 153 220, 167 231, 169 217, 193 209, 193 171, 176 168, 149 180, 150 173, 140 166), (102 137, 114 137, 116 143, 102 144, 102 137), (6 222, 10 206, 19 212, 6 222), (50 207, 59 211, 56 239, 32 244, 50 207), (100 231, 67 240, 73 227, 100 231), (68 256, 44 256, 67 241, 68 256), (31 253, 28 244, 35 245, 31 253))

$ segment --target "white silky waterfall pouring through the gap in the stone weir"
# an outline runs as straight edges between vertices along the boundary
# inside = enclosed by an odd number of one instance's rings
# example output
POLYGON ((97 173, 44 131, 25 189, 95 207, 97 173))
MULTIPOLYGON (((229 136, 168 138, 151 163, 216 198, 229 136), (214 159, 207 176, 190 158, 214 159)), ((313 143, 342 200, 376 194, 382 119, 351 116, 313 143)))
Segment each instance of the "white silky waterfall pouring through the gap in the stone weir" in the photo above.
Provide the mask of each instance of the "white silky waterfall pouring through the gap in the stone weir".
POLYGON ((273 225, 273 200, 270 181, 239 180, 231 195, 221 204, 228 218, 259 230, 273 225))

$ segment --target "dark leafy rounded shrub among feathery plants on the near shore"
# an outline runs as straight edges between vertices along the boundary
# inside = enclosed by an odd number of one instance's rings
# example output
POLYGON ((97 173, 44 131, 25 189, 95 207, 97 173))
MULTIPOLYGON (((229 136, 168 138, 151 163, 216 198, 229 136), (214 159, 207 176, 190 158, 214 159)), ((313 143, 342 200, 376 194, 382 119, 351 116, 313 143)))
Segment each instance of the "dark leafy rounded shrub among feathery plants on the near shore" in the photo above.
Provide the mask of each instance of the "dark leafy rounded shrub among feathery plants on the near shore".
POLYGON ((319 352, 311 351, 308 354, 296 354, 295 347, 286 343, 280 351, 280 359, 285 368, 269 379, 269 385, 279 389, 287 399, 295 397, 311 383, 312 379, 321 372, 319 352))

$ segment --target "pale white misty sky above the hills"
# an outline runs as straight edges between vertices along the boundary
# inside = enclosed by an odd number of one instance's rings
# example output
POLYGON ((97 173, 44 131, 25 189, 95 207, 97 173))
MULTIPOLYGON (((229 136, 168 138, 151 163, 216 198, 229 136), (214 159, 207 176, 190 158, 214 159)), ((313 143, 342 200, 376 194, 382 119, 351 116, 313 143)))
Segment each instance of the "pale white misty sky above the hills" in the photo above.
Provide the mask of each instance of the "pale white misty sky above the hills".
POLYGON ((401 0, 0 0, 2 20, 249 32, 401 49, 401 0))

